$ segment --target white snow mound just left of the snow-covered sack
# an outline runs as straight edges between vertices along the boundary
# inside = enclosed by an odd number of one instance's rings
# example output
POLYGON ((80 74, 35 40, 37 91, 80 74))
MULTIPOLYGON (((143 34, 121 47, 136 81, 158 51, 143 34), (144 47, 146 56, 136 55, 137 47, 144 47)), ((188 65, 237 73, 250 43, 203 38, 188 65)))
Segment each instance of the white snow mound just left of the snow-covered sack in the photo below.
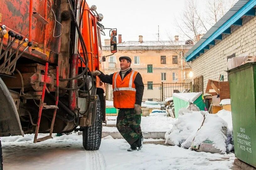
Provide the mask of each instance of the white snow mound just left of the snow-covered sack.
POLYGON ((187 143, 186 140, 191 134, 196 133, 203 119, 204 117, 200 112, 192 112, 185 108, 180 109, 179 118, 174 121, 173 128, 165 134, 165 144, 180 146, 184 142, 187 143))

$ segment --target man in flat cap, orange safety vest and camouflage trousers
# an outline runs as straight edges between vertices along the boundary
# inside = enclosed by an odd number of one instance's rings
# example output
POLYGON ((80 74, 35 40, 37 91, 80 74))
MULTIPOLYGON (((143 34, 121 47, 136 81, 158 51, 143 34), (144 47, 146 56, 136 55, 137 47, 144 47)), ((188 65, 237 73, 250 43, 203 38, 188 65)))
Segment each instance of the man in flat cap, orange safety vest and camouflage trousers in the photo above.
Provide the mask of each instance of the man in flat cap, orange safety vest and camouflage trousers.
POLYGON ((141 150, 143 136, 141 133, 141 102, 144 85, 141 74, 131 69, 131 58, 119 58, 120 72, 105 75, 93 71, 93 76, 99 76, 102 82, 112 84, 114 107, 120 109, 116 127, 125 140, 131 145, 127 151, 141 150))

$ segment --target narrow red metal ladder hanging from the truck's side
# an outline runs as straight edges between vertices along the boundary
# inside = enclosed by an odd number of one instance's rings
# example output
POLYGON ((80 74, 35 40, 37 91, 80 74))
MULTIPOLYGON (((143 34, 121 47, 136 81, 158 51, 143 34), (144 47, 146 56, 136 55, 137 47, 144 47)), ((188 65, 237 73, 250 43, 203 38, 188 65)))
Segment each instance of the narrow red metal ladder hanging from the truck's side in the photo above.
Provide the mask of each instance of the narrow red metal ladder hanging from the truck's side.
POLYGON ((58 101, 59 101, 59 68, 58 68, 58 66, 56 67, 56 95, 55 95, 56 99, 55 99, 55 105, 46 105, 46 103, 44 103, 47 75, 48 75, 48 63, 45 64, 45 76, 44 76, 43 92, 42 92, 41 101, 40 101, 40 104, 39 104, 39 113, 38 113, 38 119, 37 119, 37 124, 36 124, 36 128, 35 128, 34 143, 42 142, 42 141, 45 141, 47 139, 52 139, 53 126, 54 126, 54 121, 55 121, 55 117, 56 117, 56 112, 57 112, 57 109, 58 109, 58 101), (43 109, 54 109, 53 117, 52 117, 52 121, 51 121, 50 134, 48 136, 43 137, 43 138, 37 138, 43 109))

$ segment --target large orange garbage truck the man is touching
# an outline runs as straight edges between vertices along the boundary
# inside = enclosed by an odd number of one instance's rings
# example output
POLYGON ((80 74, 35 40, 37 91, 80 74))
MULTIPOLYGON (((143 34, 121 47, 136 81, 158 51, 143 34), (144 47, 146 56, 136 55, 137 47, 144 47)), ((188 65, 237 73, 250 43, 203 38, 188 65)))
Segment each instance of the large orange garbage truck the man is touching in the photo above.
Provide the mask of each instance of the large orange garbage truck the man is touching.
POLYGON ((91 71, 105 61, 102 19, 85 0, 1 1, 0 137, 82 131, 83 147, 99 149, 105 87, 91 71))

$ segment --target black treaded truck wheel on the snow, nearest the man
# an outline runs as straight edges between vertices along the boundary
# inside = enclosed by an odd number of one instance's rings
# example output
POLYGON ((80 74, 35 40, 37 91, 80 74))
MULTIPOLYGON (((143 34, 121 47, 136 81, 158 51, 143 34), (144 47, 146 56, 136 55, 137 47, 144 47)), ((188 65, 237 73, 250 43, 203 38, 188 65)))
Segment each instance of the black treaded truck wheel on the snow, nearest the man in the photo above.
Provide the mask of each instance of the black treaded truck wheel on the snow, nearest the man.
POLYGON ((92 126, 85 127, 83 130, 83 147, 85 150, 98 150, 101 143, 102 133, 102 113, 100 100, 97 100, 96 119, 92 126))

